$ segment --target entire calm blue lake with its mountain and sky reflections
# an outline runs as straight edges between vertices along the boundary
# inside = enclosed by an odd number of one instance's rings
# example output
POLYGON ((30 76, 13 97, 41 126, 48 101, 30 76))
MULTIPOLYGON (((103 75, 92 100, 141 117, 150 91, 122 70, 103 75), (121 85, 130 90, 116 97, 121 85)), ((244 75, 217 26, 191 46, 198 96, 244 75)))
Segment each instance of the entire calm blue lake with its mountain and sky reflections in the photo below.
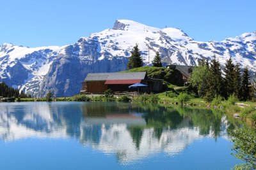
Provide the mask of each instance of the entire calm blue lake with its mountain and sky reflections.
POLYGON ((0 169, 230 169, 218 111, 129 103, 0 103, 0 169))

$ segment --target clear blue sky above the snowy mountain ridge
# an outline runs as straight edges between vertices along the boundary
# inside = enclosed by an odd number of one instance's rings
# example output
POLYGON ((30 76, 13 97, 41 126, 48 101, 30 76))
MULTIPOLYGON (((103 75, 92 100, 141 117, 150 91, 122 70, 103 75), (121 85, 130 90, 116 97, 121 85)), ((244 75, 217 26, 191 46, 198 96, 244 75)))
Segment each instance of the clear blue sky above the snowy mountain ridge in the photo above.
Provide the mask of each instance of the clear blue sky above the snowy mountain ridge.
POLYGON ((0 45, 69 45, 128 19, 197 41, 256 31, 255 0, 0 0, 0 45))

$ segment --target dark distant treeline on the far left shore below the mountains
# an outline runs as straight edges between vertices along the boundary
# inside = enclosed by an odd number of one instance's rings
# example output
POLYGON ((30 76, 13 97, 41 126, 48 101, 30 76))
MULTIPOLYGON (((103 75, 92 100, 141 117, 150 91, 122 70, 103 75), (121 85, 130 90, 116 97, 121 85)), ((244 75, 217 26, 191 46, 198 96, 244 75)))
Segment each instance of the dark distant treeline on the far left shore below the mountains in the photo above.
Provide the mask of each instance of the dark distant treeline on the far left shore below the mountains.
POLYGON ((1 82, 0 83, 0 96, 2 97, 20 97, 20 98, 27 98, 27 97, 31 97, 31 96, 27 96, 26 94, 24 94, 24 92, 19 92, 18 89, 13 89, 12 87, 8 87, 8 85, 6 85, 6 83, 1 82))

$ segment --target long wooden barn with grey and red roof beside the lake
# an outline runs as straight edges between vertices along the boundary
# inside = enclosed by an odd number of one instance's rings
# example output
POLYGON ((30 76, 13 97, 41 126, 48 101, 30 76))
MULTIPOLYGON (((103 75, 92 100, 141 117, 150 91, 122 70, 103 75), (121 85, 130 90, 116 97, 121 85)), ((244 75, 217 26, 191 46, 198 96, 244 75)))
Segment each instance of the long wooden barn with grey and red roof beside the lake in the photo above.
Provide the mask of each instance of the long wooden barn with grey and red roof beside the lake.
POLYGON ((135 83, 143 83, 147 87, 140 92, 159 92, 163 90, 163 80, 148 78, 147 72, 134 73, 88 73, 82 83, 81 94, 102 94, 107 89, 113 92, 134 92, 129 88, 135 83))

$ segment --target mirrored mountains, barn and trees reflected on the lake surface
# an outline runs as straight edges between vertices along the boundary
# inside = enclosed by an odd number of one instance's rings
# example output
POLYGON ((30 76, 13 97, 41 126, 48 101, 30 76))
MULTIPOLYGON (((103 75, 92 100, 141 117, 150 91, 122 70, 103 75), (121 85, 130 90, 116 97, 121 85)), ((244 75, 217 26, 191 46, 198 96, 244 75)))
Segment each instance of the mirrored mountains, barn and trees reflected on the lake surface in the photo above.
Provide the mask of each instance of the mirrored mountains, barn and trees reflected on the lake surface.
POLYGON ((212 110, 125 103, 1 103, 0 139, 76 138, 115 153, 122 164, 150 154, 175 155, 205 137, 228 138, 212 110))

